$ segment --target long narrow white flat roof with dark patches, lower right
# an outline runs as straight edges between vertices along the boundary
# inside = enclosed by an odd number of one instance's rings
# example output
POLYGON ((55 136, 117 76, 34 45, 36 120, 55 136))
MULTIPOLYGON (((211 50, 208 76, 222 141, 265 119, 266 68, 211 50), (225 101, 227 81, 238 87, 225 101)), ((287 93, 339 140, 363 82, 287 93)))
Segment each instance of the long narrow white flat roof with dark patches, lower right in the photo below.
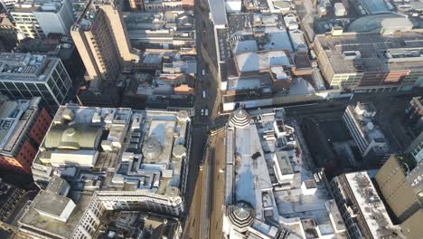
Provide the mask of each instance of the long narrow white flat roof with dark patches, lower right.
POLYGON ((373 237, 387 238, 392 235, 392 232, 401 234, 399 228, 392 225, 390 215, 371 183, 369 175, 366 172, 355 172, 345 174, 345 177, 373 237))

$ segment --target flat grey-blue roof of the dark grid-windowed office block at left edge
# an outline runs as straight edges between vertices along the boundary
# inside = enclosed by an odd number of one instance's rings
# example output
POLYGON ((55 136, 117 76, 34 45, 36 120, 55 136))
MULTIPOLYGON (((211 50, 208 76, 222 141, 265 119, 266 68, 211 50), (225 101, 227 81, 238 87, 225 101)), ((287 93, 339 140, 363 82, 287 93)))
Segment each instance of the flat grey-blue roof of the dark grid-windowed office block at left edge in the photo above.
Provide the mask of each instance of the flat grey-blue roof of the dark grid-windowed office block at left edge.
POLYGON ((47 81, 58 58, 31 53, 1 53, 2 81, 47 81))

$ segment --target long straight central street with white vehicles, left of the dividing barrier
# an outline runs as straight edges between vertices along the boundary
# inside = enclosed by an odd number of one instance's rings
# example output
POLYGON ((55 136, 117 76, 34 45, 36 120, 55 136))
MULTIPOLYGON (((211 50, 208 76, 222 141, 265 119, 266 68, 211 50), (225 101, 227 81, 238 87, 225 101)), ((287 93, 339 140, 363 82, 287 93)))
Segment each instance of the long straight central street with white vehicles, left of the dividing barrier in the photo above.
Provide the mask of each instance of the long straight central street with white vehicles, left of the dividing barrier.
MULTIPOLYGON (((202 211, 203 207, 203 188, 204 188, 204 176, 203 171, 200 171, 200 165, 202 164, 206 154, 204 152, 207 137, 209 136, 208 131, 212 125, 212 120, 218 116, 219 103, 218 98, 218 84, 215 79, 216 76, 212 75, 208 69, 208 63, 202 56, 201 48, 204 47, 202 43, 203 37, 206 39, 210 38, 212 29, 207 27, 205 17, 208 16, 207 7, 204 6, 206 1, 196 0, 194 15, 196 19, 196 46, 197 46, 197 79, 195 83, 196 100, 195 100, 195 116, 193 118, 192 128, 192 155, 189 163, 189 174, 188 174, 188 185, 187 192, 185 194, 186 204, 186 220, 183 225, 183 238, 201 238, 202 236, 202 211), (204 70, 205 75, 202 75, 204 70), (202 95, 202 91, 205 92, 205 97, 202 95), (202 110, 209 111, 208 116, 202 115, 202 110)), ((212 43, 208 43, 206 47, 213 47, 212 43)), ((206 49, 207 51, 208 49, 206 49)), ((211 51, 213 51, 211 49, 211 51)), ((207 169, 207 168, 206 168, 207 169)), ((213 237, 211 237, 213 238, 213 237)))

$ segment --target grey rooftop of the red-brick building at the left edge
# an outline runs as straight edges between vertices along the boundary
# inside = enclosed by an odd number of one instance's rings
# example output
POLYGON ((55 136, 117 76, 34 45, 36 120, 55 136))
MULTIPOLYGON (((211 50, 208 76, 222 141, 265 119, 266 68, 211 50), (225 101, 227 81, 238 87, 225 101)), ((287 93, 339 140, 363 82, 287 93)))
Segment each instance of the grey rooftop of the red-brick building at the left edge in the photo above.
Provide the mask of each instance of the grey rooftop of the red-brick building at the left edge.
POLYGON ((11 156, 38 111, 41 98, 0 100, 0 155, 11 156))

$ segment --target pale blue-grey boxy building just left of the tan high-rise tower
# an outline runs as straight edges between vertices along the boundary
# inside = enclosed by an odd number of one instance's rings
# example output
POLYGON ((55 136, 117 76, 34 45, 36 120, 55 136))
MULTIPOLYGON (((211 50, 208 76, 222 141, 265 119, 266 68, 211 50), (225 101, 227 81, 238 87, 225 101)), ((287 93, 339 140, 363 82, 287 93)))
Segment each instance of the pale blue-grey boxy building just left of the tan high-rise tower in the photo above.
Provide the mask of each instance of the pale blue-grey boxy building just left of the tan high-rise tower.
POLYGON ((69 35, 74 16, 69 0, 43 3, 33 12, 47 36, 49 33, 61 33, 69 35))

